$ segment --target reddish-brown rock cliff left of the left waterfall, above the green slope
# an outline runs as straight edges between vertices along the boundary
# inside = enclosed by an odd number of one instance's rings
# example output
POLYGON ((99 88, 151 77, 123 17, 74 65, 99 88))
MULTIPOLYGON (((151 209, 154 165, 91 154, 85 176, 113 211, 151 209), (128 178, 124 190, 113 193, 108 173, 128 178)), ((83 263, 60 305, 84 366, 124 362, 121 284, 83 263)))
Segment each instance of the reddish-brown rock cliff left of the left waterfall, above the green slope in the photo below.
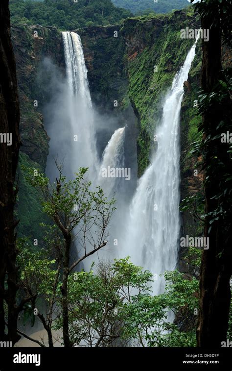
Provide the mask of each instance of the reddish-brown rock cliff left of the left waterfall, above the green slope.
POLYGON ((12 41, 19 76, 21 151, 45 170, 48 137, 41 114, 44 93, 38 70, 45 55, 57 65, 63 64, 61 33, 52 27, 17 25, 12 27, 12 41))

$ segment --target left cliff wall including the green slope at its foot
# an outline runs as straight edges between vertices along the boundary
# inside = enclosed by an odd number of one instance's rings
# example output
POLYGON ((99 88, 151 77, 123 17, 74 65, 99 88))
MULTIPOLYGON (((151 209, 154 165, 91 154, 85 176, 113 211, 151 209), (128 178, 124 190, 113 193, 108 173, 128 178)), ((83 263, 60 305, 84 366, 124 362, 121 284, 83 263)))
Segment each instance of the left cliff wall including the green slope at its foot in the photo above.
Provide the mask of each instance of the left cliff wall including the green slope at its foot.
POLYGON ((64 67, 61 33, 56 28, 34 25, 12 27, 21 108, 20 135, 21 153, 19 159, 19 193, 16 213, 20 219, 18 236, 43 239, 39 223, 45 222, 45 215, 36 191, 24 179, 24 167, 45 171, 49 148, 42 115, 46 92, 38 78, 41 61, 49 56, 58 66, 64 67))

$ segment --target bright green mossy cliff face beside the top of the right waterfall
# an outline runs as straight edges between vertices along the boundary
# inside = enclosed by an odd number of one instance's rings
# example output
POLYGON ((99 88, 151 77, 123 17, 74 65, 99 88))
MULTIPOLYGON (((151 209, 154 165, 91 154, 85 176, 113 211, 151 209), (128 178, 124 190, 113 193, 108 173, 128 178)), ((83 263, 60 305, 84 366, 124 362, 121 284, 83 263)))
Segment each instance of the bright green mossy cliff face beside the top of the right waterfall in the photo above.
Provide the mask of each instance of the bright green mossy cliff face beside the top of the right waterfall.
POLYGON ((176 11, 171 16, 129 18, 124 23, 123 33, 129 40, 128 94, 140 124, 139 176, 149 164, 155 127, 162 115, 162 99, 193 43, 180 38, 181 28, 196 23, 189 16, 188 11, 176 11))

